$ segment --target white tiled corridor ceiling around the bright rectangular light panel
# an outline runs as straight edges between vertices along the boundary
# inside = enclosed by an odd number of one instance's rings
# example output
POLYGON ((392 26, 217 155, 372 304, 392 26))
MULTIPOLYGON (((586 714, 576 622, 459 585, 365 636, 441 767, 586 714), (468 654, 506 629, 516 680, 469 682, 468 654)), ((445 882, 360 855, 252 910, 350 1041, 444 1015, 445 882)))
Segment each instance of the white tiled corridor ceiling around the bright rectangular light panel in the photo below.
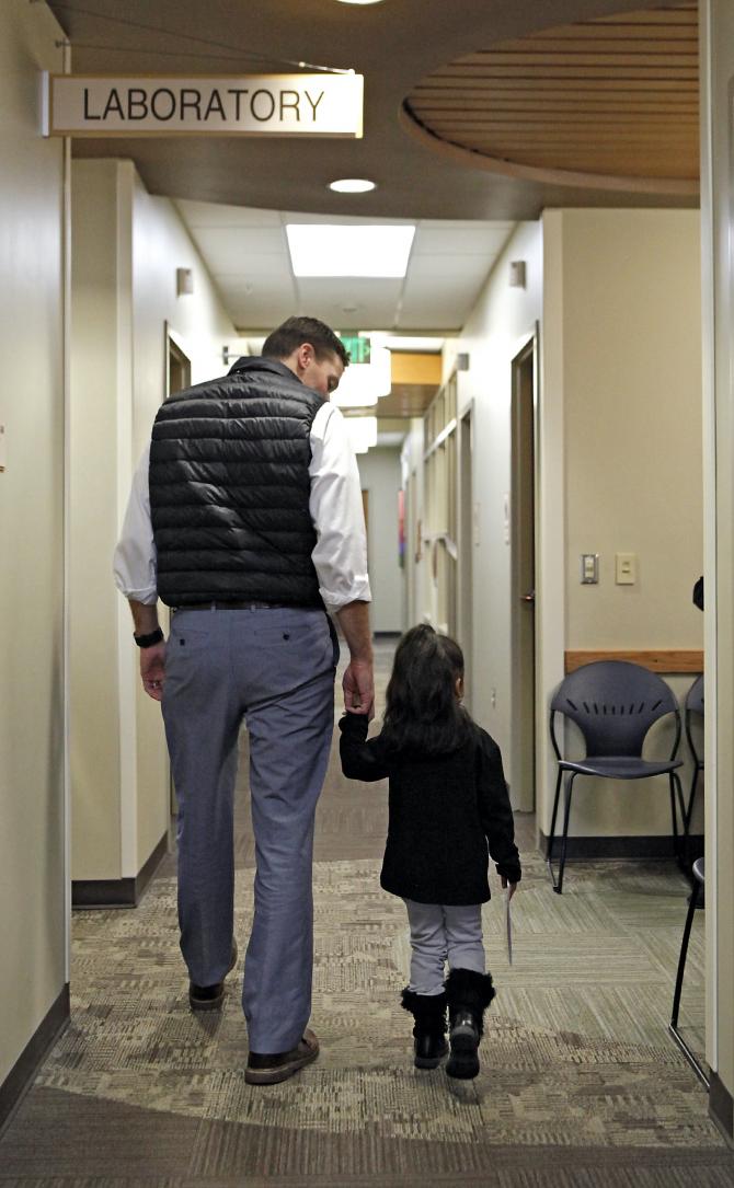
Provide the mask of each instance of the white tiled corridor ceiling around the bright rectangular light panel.
POLYGON ((291 214, 178 201, 191 238, 238 328, 270 329, 292 314, 338 329, 458 330, 505 246, 513 222, 387 220, 291 214), (285 226, 412 222, 401 280, 293 277, 285 226))

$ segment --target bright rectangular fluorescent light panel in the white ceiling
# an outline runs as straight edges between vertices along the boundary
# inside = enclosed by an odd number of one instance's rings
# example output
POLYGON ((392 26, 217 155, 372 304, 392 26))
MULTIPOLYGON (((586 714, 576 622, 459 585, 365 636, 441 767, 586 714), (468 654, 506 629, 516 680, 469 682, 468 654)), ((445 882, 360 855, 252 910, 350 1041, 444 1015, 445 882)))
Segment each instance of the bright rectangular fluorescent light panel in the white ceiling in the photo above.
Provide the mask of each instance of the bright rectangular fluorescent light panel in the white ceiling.
POLYGON ((296 277, 404 277, 412 223, 287 223, 296 277))

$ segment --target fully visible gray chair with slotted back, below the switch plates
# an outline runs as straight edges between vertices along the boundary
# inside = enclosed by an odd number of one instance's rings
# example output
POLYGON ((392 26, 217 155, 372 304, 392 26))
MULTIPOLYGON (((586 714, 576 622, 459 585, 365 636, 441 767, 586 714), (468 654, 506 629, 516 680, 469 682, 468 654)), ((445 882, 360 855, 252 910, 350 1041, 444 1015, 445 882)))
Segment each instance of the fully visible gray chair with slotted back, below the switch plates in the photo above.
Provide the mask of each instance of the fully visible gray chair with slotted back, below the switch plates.
POLYGON ((563 871, 569 832, 571 792, 576 776, 599 776, 603 779, 647 779, 667 776, 672 814, 673 851, 681 858, 676 795, 681 808, 683 833, 686 832, 685 804, 676 759, 681 741, 681 712, 670 688, 662 677, 639 664, 626 661, 596 661, 576 669, 558 685, 550 709, 550 734, 558 760, 558 778, 553 815, 548 842, 548 866, 558 895, 563 891, 563 871), (556 715, 563 714, 578 726, 583 734, 584 759, 564 759, 556 738, 556 715), (676 737, 667 759, 643 759, 645 737, 658 719, 673 714, 676 737), (563 840, 558 879, 553 873, 553 840, 561 786, 565 776, 563 840))

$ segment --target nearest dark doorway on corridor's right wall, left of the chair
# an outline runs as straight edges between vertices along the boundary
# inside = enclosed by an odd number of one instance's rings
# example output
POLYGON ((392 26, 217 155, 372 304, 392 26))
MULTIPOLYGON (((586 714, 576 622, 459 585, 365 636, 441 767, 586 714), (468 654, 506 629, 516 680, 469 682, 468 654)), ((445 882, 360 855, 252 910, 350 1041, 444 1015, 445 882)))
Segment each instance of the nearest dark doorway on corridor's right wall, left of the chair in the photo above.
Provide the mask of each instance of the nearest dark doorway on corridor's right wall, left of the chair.
POLYGON ((511 548, 512 803, 536 807, 537 334, 512 360, 511 548))

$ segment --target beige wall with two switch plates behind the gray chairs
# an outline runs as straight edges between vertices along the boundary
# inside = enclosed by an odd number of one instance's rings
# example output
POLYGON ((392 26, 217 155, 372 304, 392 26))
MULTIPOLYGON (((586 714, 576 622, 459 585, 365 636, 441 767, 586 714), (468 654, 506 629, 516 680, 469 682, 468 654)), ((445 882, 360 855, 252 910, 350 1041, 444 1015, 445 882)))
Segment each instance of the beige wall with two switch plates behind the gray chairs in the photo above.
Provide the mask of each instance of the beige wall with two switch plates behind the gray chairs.
MULTIPOLYGON (((544 241, 543 398, 563 400, 565 543, 556 530, 553 551, 565 571, 565 647, 700 649, 698 213, 553 211, 544 241), (581 584, 581 552, 600 554, 597 586, 581 584), (615 584, 615 552, 637 554, 634 586, 615 584)), ((669 683, 683 697, 691 681, 669 683)), ((581 790, 571 833, 670 833, 666 781, 581 790)))

